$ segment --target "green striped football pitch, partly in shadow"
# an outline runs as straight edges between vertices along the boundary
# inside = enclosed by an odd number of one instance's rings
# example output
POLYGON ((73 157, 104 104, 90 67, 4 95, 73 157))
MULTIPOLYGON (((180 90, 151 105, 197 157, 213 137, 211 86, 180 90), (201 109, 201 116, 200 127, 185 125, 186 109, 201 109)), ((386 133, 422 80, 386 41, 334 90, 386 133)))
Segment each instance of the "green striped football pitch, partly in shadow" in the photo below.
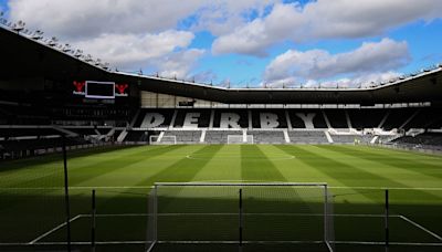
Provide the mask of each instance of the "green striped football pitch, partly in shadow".
MULTIPOLYGON (((91 251, 93 189, 97 251, 143 251, 152 185, 189 181, 326 182, 334 196, 336 251, 385 251, 388 189, 390 251, 442 251, 442 156, 352 145, 140 146, 76 150, 67 156, 71 235, 76 251, 91 251)), ((0 251, 64 248, 63 185, 61 155, 0 162, 0 251)), ((266 204, 282 206, 278 196, 262 195, 266 204)), ((256 197, 254 204, 259 201, 256 197)), ((169 210, 173 212, 176 206, 179 212, 192 203, 199 214, 166 214, 158 223, 159 232, 176 239, 236 239, 238 209, 224 208, 236 206, 238 199, 188 196, 169 202, 169 210), (204 211, 225 214, 204 216, 204 211)), ((292 206, 291 213, 299 213, 296 207, 292 206)), ((314 214, 262 214, 245 221, 243 229, 252 239, 298 241, 322 232, 316 230, 320 221, 314 214)), ((210 250, 238 251, 238 244, 162 244, 155 251, 210 250)), ((293 243, 245 244, 243 251, 326 250, 322 244, 293 243)))

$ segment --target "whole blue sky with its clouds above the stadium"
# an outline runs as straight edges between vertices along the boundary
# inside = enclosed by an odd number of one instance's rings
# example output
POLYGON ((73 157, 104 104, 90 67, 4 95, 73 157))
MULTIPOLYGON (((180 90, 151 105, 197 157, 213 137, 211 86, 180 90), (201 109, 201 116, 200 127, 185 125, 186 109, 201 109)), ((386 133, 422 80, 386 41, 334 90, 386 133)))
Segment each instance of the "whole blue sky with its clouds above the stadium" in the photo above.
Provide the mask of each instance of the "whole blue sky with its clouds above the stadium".
POLYGON ((0 9, 119 70, 215 85, 355 86, 442 62, 440 0, 0 0, 0 9))

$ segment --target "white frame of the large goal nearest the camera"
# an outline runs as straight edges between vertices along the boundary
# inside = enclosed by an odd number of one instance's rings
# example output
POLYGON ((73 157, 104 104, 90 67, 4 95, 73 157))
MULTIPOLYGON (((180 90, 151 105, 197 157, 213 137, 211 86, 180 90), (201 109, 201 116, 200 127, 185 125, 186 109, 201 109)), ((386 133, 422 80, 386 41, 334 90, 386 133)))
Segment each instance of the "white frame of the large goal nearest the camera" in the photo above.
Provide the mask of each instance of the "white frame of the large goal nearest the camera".
MULTIPOLYGON (((242 234, 240 234, 240 240, 239 241, 168 241, 168 240, 160 240, 158 239, 158 217, 160 216, 164 218, 165 216, 161 213, 158 213, 158 192, 161 190, 161 188, 185 188, 185 187, 193 187, 193 188, 201 188, 202 191, 204 191, 206 188, 214 188, 214 187, 233 187, 238 188, 239 190, 239 209, 238 209, 238 214, 239 214, 239 230, 240 233, 242 233, 242 219, 243 219, 243 210, 242 210, 242 190, 248 188, 248 187, 270 187, 270 188, 284 188, 284 187, 292 187, 292 188, 319 188, 319 190, 323 191, 324 198, 323 198, 323 203, 324 203, 324 212, 320 214, 314 214, 314 216, 323 216, 323 240, 322 241, 312 241, 312 243, 318 243, 322 242, 326 245, 327 251, 334 252, 335 251, 335 234, 334 234, 334 221, 333 221, 333 202, 332 199, 333 197, 329 195, 328 186, 327 183, 311 183, 311 182, 156 182, 152 189, 150 190, 149 197, 148 197, 148 227, 147 227, 147 239, 146 239, 146 252, 151 252, 154 251, 154 248, 156 244, 189 244, 189 243, 194 243, 194 244, 239 244, 240 251, 242 251, 242 244, 265 244, 267 241, 242 241, 242 234)), ((181 189, 182 190, 182 189, 181 189)), ((179 214, 179 213, 176 213, 179 214)), ((186 214, 186 213, 183 213, 186 214)), ((203 214, 203 213, 201 213, 203 214)), ((223 214, 223 213, 220 213, 223 214)), ((293 213, 296 214, 296 213, 293 213)), ((166 213, 167 216, 167 213, 166 213)), ((306 218, 312 217, 308 214, 305 214, 306 218)), ((269 241, 270 244, 274 243, 303 243, 303 241, 269 241)), ((306 242, 311 243, 311 242, 306 242)))

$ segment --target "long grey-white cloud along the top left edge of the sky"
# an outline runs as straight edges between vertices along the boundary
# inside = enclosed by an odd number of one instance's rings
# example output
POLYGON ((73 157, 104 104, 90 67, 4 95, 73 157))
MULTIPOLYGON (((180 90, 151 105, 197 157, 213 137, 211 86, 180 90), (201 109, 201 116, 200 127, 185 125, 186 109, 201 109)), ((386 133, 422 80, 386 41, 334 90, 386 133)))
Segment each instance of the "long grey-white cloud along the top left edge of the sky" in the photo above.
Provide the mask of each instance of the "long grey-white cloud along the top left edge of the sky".
POLYGON ((189 17, 196 30, 224 34, 280 0, 13 0, 11 18, 65 38, 176 29, 189 17))

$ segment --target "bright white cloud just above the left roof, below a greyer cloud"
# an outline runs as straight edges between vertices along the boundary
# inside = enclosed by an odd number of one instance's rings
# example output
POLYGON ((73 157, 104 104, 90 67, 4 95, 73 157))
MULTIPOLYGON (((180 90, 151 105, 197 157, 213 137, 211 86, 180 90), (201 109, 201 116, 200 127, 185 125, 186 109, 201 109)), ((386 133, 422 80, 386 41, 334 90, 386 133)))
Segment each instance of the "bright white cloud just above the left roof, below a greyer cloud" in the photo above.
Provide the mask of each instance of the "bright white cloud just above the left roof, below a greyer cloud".
POLYGON ((162 77, 187 78, 204 53, 204 50, 187 49, 192 39, 193 34, 185 31, 103 34, 75 45, 94 52, 94 55, 105 55, 113 65, 123 70, 149 69, 162 77))

